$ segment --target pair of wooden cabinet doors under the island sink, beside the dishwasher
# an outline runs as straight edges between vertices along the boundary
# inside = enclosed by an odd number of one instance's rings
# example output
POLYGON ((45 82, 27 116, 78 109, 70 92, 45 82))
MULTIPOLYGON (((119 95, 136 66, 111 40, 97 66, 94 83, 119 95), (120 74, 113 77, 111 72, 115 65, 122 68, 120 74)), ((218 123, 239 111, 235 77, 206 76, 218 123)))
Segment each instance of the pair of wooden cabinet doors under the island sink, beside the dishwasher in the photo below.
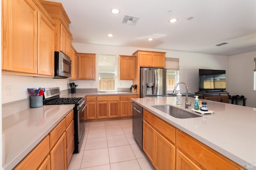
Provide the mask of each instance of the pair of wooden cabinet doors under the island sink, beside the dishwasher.
POLYGON ((156 170, 175 169, 175 146, 144 121, 143 150, 156 170))

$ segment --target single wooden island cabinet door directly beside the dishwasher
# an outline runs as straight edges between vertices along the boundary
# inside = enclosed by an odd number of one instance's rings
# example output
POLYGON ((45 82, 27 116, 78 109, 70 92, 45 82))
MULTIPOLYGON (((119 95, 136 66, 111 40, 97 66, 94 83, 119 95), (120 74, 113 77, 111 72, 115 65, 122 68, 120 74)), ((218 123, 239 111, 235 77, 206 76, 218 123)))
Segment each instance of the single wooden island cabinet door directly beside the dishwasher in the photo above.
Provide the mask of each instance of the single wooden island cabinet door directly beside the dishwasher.
POLYGON ((154 135, 154 129, 143 121, 143 150, 152 164, 154 164, 154 135))

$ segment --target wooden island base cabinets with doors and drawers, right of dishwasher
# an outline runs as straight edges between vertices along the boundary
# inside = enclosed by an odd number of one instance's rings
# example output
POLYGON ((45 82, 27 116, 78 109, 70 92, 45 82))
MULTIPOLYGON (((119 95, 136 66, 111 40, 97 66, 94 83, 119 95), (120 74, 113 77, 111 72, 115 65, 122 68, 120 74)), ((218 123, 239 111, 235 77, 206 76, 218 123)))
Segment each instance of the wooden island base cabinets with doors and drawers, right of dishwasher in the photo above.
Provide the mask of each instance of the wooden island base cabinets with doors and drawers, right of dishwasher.
POLYGON ((143 114, 143 150, 156 170, 245 170, 149 111, 143 114))

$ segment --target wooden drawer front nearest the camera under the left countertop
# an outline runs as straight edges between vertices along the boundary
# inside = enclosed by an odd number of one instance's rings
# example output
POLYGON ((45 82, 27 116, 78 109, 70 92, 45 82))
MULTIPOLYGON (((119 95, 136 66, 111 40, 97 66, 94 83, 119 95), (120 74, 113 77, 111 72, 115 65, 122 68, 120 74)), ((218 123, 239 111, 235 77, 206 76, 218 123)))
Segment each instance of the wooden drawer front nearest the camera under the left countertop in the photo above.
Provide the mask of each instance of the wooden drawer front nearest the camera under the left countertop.
POLYGON ((47 135, 14 170, 37 169, 50 152, 49 135, 47 135))

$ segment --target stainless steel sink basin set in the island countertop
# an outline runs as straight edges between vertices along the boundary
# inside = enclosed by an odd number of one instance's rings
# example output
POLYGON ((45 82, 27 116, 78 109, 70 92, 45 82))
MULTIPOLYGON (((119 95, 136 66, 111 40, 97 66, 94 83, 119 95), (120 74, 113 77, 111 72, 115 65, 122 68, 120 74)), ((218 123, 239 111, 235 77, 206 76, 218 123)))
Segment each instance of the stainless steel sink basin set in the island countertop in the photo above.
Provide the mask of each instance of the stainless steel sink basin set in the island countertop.
POLYGON ((152 106, 152 107, 154 107, 160 111, 163 111, 164 113, 166 113, 168 115, 179 118, 179 119, 202 117, 202 115, 198 115, 197 113, 179 109, 179 108, 171 106, 171 105, 156 105, 156 106, 152 106))

